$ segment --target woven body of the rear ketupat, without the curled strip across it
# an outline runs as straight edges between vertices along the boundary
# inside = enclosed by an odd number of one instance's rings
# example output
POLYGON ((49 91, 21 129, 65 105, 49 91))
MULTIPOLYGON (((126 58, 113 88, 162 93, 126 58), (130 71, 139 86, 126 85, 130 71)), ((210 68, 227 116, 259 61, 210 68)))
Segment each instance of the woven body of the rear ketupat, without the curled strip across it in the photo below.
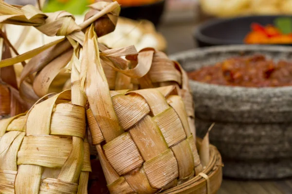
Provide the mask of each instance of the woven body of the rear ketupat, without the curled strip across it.
POLYGON ((154 51, 149 71, 145 76, 139 79, 130 78, 122 72, 115 71, 112 67, 103 63, 103 58, 101 58, 110 90, 138 90, 167 85, 176 86, 177 93, 180 97, 183 98, 183 102, 185 104, 190 130, 196 138, 193 96, 190 92, 187 74, 181 65, 175 61, 170 60, 162 51, 146 48, 142 49, 138 55, 126 57, 130 62, 129 67, 134 68, 140 62, 139 59, 141 59, 141 61, 144 60, 139 56, 142 56, 144 52, 149 50, 154 51))

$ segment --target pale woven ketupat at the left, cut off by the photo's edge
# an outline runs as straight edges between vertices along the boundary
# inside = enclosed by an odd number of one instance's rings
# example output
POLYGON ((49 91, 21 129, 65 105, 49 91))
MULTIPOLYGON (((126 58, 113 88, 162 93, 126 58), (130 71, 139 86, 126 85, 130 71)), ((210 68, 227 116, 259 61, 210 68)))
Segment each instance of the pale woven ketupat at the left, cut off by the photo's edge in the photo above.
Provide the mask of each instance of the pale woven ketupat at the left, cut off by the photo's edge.
POLYGON ((91 171, 85 108, 67 90, 0 120, 1 194, 86 194, 91 171))

